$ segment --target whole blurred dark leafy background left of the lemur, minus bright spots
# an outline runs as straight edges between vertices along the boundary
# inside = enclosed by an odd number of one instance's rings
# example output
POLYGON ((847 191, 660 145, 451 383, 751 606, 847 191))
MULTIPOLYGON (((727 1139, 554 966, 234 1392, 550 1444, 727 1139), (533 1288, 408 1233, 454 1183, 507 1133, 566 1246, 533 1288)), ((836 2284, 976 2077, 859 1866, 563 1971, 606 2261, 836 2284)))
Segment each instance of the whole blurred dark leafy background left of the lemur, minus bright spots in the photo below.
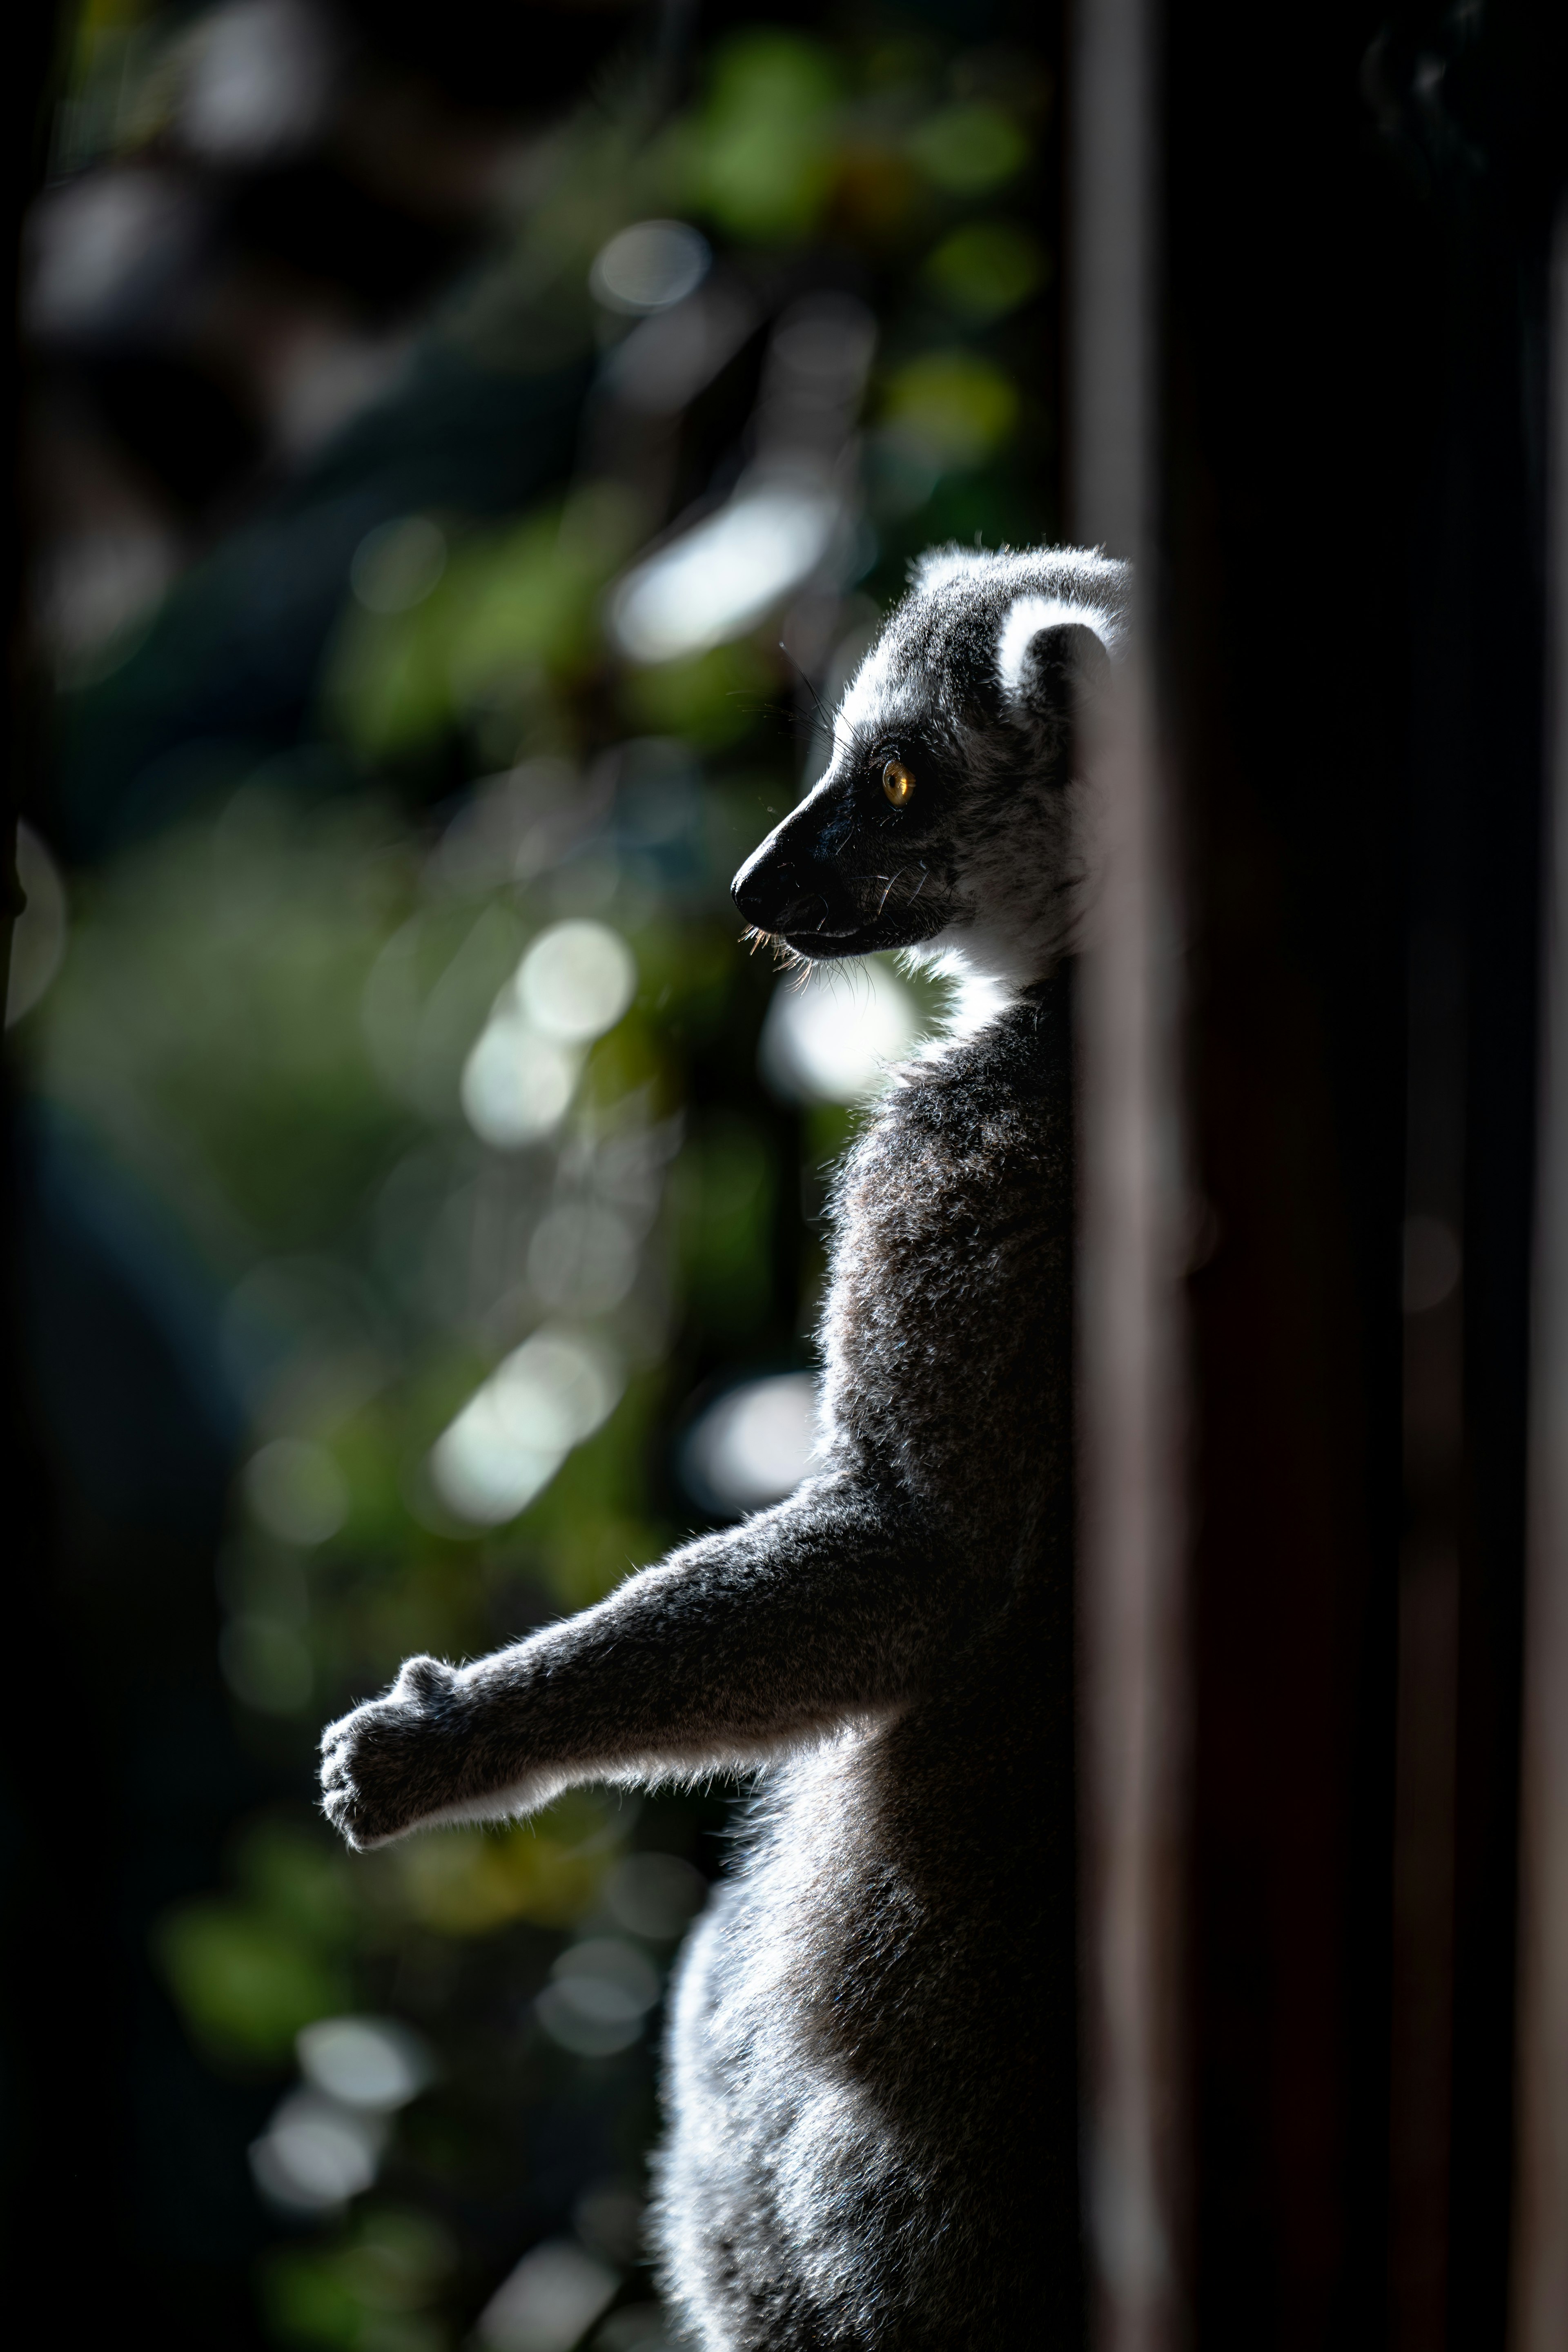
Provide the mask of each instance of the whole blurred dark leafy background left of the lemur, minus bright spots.
MULTIPOLYGON (((1056 532, 1058 33, 1009 7, 273 9, 268 54, 303 21, 336 80, 247 151, 202 141, 190 96, 237 14, 35 19, 19 101, 12 743, 68 941, 7 1094, 12 2277, 73 2338, 440 2352, 543 2244, 621 2281, 602 2352, 651 2352, 658 2002, 595 2051, 550 1971, 597 1943, 661 1985, 679 1919, 628 1924, 621 1865, 701 1896, 729 1792, 588 1799, 388 1870, 327 1837, 313 1745, 409 1649, 494 1646, 736 1508, 691 1432, 813 1359, 858 1080, 762 1075, 773 974, 726 884, 910 555, 1056 532), (632 322, 588 292, 649 214, 691 219, 748 310, 654 423, 614 388, 632 322), (766 456, 776 336, 813 301, 877 329, 835 548, 762 621, 637 666, 602 590, 766 456), (355 557, 409 515, 447 572, 367 607, 355 557), (503 656, 475 677, 482 626, 503 656), (555 847, 463 880, 515 764, 555 847), (562 915, 616 927, 642 983, 559 1136, 512 1152, 468 1131, 456 1068, 388 1077, 360 1002, 397 941, 418 990, 473 950, 461 1061, 562 915), (454 1524, 421 1463, 541 1319, 529 1230, 621 1148, 651 1223, 630 1298, 583 1312, 628 1395, 538 1503, 454 1524), (256 1505, 280 1439, 346 1494, 324 1536, 256 1505), (280 2204, 247 2152, 301 2096, 296 2030, 339 2013, 414 2030, 435 2082, 371 2187, 280 2204)), ((886 1051, 922 1004, 879 988, 835 1018, 879 1002, 886 1051)))

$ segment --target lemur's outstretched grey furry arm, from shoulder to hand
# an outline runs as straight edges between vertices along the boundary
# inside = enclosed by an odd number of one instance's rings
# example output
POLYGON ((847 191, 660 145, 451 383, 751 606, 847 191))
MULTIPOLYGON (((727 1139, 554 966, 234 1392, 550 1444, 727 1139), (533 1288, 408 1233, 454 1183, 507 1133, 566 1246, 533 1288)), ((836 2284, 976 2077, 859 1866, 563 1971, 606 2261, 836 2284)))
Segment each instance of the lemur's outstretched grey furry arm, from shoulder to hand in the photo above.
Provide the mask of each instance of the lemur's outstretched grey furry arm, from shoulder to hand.
POLYGON ((952 1639, 954 1585, 879 1496, 813 1479, 494 1658, 409 1658, 322 1736, 327 1816, 374 1846, 527 1813, 574 1780, 750 1762, 907 1696, 952 1639))

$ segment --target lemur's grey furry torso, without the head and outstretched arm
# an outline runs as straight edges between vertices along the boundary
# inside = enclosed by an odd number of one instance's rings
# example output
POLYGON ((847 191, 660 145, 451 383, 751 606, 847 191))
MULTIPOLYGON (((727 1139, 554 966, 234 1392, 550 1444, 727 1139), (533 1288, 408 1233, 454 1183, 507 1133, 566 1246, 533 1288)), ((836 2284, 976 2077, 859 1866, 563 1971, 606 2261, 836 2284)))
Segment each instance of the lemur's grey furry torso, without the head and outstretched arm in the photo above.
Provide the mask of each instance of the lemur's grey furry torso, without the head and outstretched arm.
POLYGON ((907 1705, 769 1776, 686 1962, 661 2234, 703 2340, 978 2352, 1077 2298, 1067 1025, 1060 976, 919 1070, 839 1190, 835 1458, 903 1494, 926 1639, 907 1705))

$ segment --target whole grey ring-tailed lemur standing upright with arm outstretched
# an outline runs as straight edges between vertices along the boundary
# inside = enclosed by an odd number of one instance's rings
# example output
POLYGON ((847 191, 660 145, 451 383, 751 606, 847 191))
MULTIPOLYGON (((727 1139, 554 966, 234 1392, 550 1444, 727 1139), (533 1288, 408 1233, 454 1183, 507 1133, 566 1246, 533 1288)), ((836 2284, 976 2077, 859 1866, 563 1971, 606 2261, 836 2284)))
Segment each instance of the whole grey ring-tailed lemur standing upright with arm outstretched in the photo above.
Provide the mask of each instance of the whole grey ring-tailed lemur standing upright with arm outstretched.
POLYGON ((762 1766, 668 2049, 656 2234, 703 2352, 1077 2333, 1063 950, 1072 706, 1124 604, 1098 555, 929 555, 736 877, 799 957, 945 953, 992 997, 839 1176, 820 1472, 322 1743, 355 1846, 762 1766))

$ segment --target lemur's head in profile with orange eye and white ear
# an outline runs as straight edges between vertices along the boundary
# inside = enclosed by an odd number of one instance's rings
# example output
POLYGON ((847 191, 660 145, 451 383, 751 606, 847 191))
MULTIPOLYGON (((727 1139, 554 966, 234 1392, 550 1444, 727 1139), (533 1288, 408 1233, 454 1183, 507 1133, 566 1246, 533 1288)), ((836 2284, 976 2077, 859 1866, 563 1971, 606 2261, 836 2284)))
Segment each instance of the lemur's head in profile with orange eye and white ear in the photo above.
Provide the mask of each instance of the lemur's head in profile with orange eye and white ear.
POLYGON ((1074 548, 922 557, 844 694, 832 762, 733 882, 820 962, 957 950, 1011 988, 1063 953, 1084 868, 1072 717, 1117 652, 1124 564, 1074 548))

